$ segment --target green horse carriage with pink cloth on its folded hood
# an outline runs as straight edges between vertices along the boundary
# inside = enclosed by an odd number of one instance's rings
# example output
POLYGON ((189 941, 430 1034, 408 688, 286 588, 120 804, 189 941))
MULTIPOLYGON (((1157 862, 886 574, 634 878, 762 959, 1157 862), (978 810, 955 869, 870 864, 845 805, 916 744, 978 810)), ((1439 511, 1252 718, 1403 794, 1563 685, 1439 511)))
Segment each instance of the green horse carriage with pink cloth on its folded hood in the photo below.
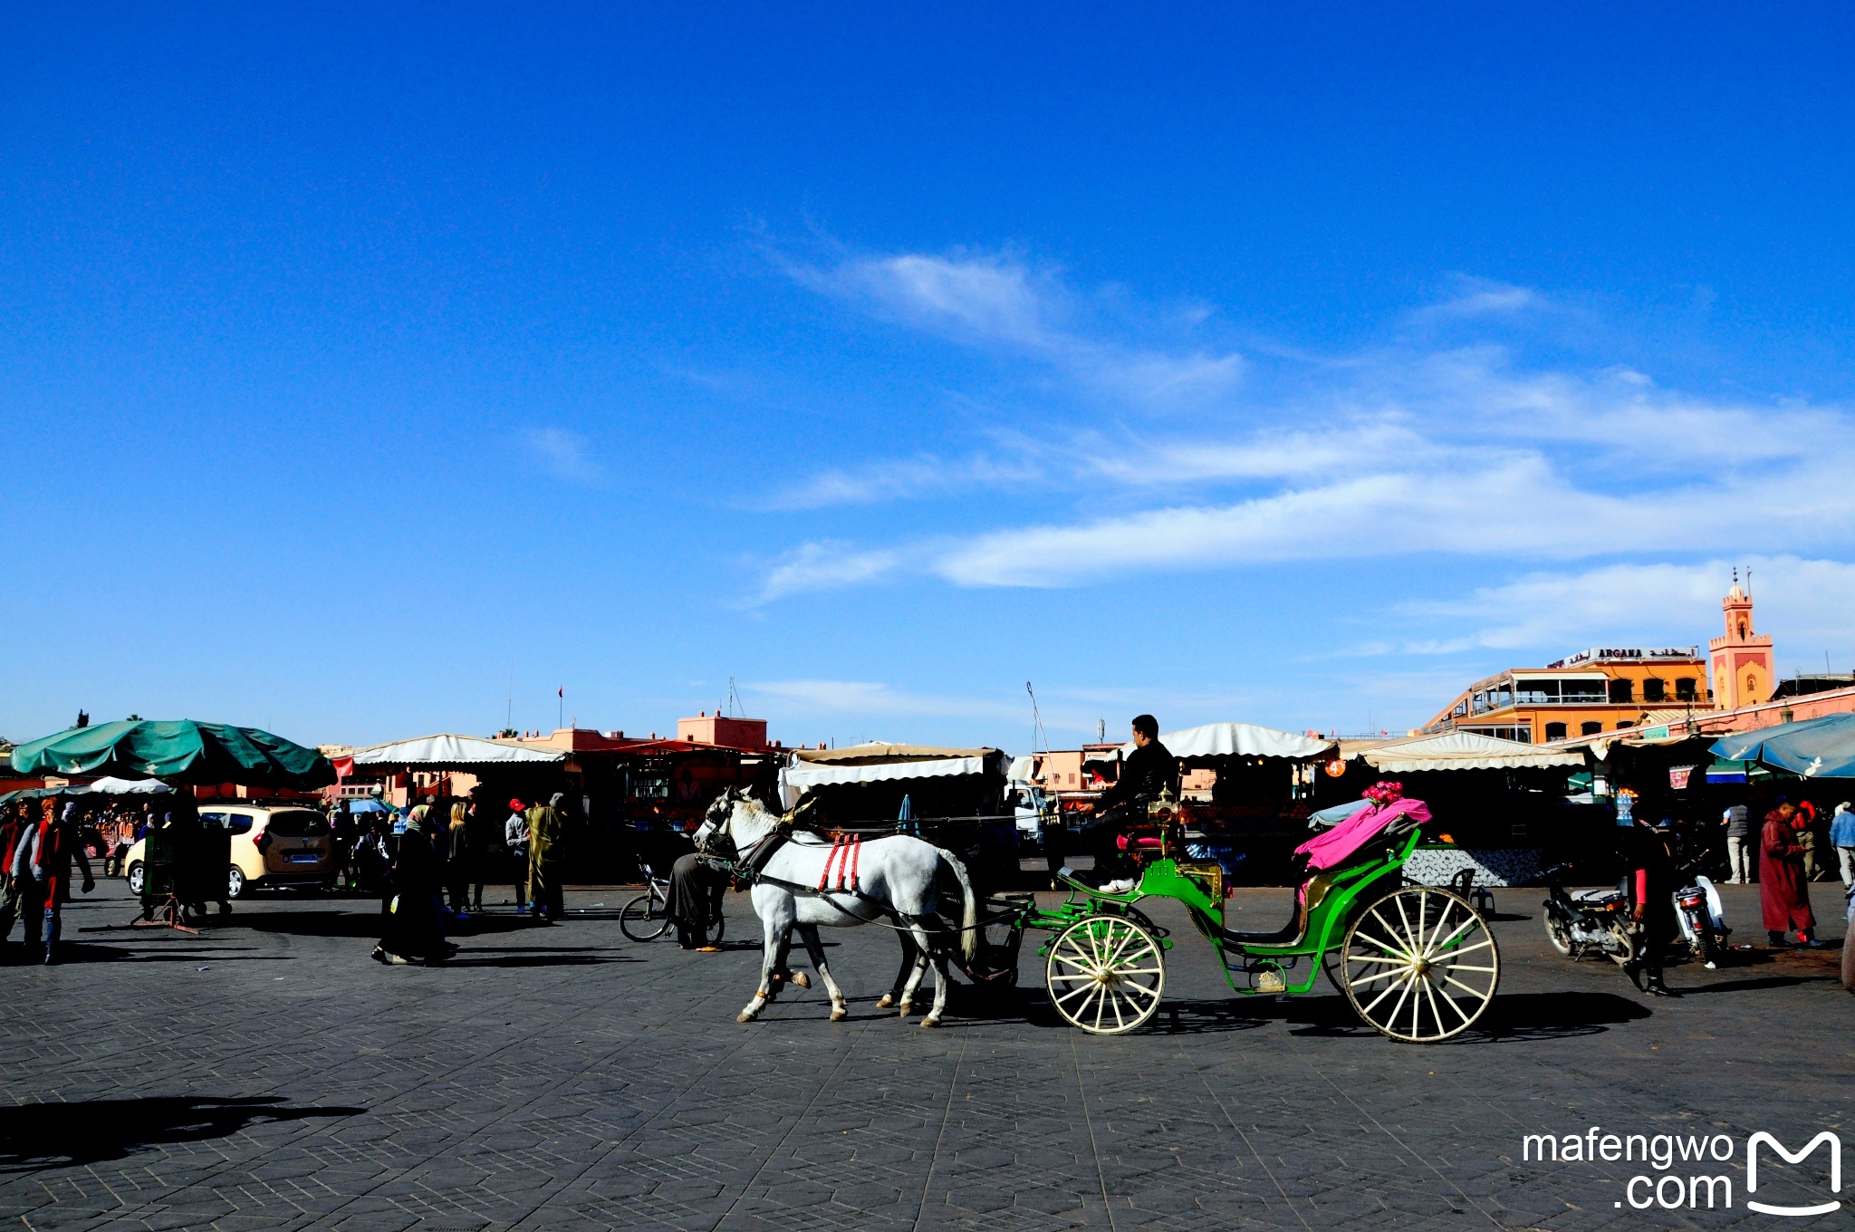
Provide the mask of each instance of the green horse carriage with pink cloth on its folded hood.
POLYGON ((1167 930, 1139 904, 1171 898, 1211 943, 1235 993, 1310 993, 1324 970, 1360 1019, 1384 1035, 1438 1043, 1488 1009, 1501 980, 1501 950, 1467 898, 1404 881, 1404 863, 1423 842, 1423 820, 1428 811, 1421 802, 1375 805, 1304 844, 1310 876, 1287 924, 1243 933, 1224 922, 1222 868, 1178 859, 1182 828, 1159 816, 1158 833, 1135 841, 1143 868, 1132 891, 1109 894, 1065 868, 1059 876, 1068 898, 1050 909, 1031 898, 994 900, 987 915, 1005 937, 987 944, 981 961, 1015 972, 1024 931, 1048 931, 1037 954, 1055 1011, 1085 1032, 1132 1032, 1159 1011, 1172 948, 1167 930), (1297 972, 1302 959, 1304 976, 1297 972))

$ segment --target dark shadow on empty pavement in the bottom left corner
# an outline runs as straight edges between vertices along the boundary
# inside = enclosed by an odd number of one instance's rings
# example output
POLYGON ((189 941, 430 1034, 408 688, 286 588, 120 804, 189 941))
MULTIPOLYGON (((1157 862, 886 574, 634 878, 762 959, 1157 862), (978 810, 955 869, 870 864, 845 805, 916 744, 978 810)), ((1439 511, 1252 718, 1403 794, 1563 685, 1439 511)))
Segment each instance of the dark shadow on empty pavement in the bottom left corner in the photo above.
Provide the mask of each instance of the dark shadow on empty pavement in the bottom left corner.
POLYGON ((252 1124, 352 1117, 365 1108, 280 1108, 282 1097, 156 1097, 0 1106, 0 1173, 122 1160, 143 1147, 226 1137, 252 1124))

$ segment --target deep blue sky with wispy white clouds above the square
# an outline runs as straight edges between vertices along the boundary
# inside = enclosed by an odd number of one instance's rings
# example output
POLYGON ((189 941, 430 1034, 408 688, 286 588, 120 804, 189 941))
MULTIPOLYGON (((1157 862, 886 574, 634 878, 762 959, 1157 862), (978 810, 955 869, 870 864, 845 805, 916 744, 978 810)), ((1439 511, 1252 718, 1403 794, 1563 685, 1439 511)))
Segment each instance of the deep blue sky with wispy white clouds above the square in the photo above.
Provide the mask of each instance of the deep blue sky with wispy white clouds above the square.
POLYGON ((0 735, 1855 668, 1851 17, 13 7, 0 735))

